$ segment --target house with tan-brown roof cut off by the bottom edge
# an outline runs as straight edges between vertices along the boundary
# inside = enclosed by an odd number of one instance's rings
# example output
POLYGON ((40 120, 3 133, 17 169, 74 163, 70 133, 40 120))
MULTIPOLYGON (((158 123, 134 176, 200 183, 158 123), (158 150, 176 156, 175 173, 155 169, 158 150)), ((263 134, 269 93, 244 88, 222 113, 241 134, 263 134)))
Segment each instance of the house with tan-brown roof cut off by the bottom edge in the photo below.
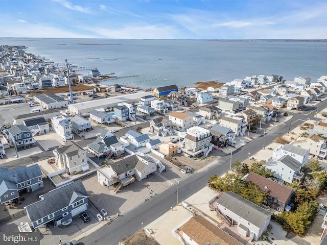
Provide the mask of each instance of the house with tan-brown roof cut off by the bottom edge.
POLYGON ((242 243, 231 235, 209 222, 201 215, 190 216, 173 229, 173 235, 186 244, 202 245, 241 245, 242 243))

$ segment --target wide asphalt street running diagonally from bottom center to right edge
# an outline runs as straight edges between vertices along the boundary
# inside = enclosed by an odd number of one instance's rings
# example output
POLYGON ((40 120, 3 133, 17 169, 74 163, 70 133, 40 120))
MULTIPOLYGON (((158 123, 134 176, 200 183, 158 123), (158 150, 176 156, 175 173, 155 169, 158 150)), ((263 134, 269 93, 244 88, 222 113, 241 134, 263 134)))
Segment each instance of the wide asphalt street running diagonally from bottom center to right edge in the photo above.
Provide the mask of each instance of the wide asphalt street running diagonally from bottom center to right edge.
MULTIPOLYGON (((319 103, 318 112, 324 110, 327 105, 327 100, 319 103)), ((253 141, 245 144, 232 154, 232 162, 236 160, 244 161, 248 157, 248 153, 254 154, 263 148, 263 144, 270 144, 277 136, 283 136, 292 131, 298 125, 306 121, 307 118, 314 119, 316 109, 314 107, 305 108, 302 113, 288 112, 289 116, 293 116, 292 120, 288 120, 285 124, 280 124, 272 130, 266 131, 265 136, 258 137, 253 141)), ((230 168, 230 155, 226 154, 223 157, 217 158, 217 161, 211 163, 204 169, 190 175, 179 182, 178 198, 179 202, 189 198, 195 192, 202 189, 208 182, 208 179, 213 174, 221 176, 230 168)), ((136 231, 141 229, 141 224, 147 226, 153 220, 160 217, 171 207, 176 205, 176 186, 173 185, 162 191, 156 197, 145 202, 134 210, 123 214, 123 216, 114 220, 113 223, 104 226, 91 235, 84 237, 80 241, 84 244, 97 245, 117 245, 122 239, 130 237, 136 231)))

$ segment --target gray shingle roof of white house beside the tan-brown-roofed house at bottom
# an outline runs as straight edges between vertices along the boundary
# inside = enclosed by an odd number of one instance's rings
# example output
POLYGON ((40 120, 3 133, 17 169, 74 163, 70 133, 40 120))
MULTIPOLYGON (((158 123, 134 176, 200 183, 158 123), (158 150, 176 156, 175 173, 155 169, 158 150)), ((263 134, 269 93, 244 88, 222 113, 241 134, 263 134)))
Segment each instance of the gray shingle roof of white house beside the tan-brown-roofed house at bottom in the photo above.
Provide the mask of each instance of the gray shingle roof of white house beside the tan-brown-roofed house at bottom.
POLYGON ((267 217, 272 215, 271 212, 231 191, 224 192, 217 203, 256 227, 262 227, 267 217))

